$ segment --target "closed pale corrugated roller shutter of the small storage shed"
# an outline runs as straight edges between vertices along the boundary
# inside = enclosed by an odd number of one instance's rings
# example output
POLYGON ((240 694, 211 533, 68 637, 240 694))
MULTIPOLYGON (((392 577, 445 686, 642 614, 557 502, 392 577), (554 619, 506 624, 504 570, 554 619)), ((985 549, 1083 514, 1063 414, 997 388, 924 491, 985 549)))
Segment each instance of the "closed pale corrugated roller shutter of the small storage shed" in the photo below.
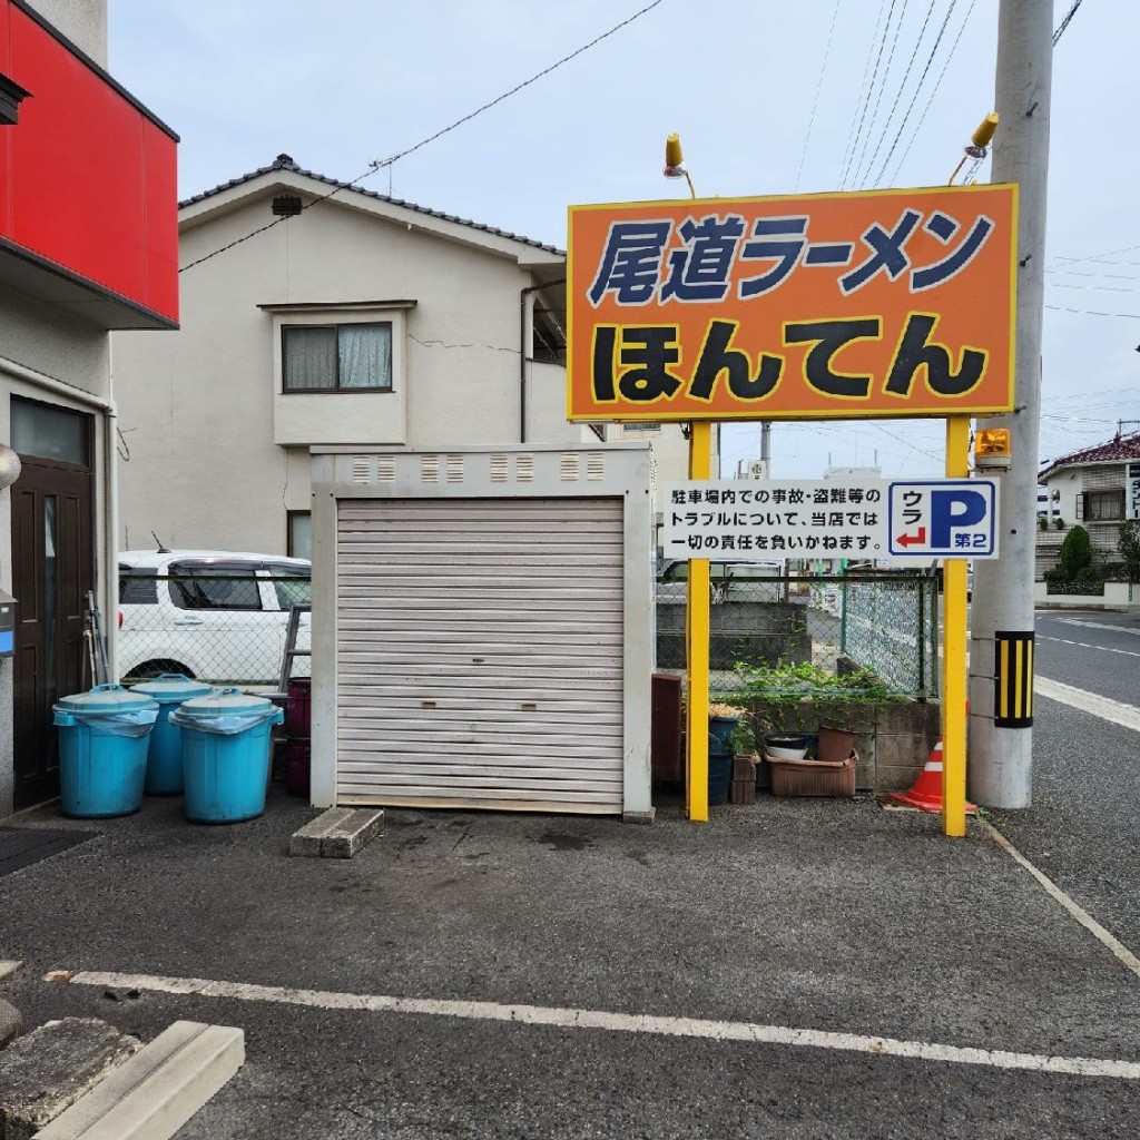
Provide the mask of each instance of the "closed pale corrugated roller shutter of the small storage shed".
POLYGON ((620 813, 622 502, 344 499, 340 804, 620 813))

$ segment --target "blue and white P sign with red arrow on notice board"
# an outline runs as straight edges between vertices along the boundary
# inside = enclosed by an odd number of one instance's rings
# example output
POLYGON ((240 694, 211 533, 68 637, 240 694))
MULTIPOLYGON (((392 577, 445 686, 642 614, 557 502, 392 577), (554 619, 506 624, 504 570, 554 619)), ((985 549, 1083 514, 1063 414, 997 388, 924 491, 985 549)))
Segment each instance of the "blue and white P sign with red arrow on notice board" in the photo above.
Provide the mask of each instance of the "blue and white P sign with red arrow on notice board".
POLYGON ((997 488, 991 479, 891 481, 891 554, 939 559, 997 556, 997 488))

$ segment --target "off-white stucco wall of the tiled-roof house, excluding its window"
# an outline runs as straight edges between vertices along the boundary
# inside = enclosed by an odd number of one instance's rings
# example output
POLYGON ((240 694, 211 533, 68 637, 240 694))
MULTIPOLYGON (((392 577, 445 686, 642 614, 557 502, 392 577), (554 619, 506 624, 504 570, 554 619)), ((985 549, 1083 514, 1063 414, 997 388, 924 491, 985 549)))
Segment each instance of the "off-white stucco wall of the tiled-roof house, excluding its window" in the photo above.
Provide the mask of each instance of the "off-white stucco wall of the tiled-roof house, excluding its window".
MULTIPOLYGON (((271 221, 275 193, 184 229, 181 263, 271 221)), ((299 458, 309 445, 516 442, 520 294, 532 283, 513 258, 340 203, 318 204, 188 269, 179 332, 114 334, 115 394, 130 451, 120 473, 120 544, 152 546, 153 530, 176 548, 284 553, 286 510, 309 506, 307 457, 299 458), (401 310, 398 399, 278 394, 275 320, 287 318, 259 306, 385 301, 415 302, 401 310), (275 443, 275 404, 314 402, 311 414, 279 414, 288 448, 275 443), (309 439, 299 427, 306 423, 309 439)), ((528 441, 579 441, 583 429, 565 422, 564 378, 551 378, 563 370, 528 368, 528 441)))

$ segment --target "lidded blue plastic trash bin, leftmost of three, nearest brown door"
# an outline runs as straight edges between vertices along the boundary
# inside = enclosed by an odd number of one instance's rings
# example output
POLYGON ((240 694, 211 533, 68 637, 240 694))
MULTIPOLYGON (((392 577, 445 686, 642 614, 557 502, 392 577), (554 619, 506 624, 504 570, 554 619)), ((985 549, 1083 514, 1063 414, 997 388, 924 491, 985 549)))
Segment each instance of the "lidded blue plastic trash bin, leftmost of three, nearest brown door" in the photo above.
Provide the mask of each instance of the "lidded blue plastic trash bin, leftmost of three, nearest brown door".
POLYGON ((122 685, 96 685, 55 706, 64 815, 101 820, 142 806, 147 738, 158 703, 122 685))

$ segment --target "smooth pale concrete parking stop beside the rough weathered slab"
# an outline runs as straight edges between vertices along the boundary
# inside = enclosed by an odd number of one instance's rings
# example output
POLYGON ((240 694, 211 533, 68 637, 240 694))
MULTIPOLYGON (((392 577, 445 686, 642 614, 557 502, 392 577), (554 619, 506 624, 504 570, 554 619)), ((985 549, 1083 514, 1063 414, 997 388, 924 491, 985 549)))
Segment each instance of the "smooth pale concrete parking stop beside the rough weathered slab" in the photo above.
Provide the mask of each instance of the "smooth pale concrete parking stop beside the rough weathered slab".
POLYGON ((176 1021, 35 1140, 169 1140, 244 1060, 241 1029, 176 1021))

